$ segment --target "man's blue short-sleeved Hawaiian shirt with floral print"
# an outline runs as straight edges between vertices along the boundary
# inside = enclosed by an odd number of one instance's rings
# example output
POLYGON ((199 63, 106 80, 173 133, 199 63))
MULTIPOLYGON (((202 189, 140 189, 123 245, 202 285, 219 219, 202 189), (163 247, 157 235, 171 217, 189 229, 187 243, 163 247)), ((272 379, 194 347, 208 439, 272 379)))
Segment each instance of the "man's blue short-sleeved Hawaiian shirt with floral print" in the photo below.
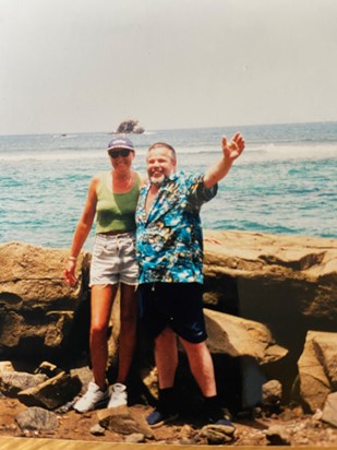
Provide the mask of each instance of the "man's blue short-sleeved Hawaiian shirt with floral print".
POLYGON ((166 178, 148 215, 144 186, 136 209, 136 252, 142 283, 203 283, 203 233, 200 210, 217 193, 203 175, 178 171, 166 178))

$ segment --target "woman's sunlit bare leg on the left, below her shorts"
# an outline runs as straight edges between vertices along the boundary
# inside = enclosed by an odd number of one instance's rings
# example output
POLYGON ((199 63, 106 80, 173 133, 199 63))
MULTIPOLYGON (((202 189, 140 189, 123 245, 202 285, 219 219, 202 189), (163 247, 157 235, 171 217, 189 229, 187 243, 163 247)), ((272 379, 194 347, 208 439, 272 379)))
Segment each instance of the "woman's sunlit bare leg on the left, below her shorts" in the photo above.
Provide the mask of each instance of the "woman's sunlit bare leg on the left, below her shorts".
POLYGON ((118 285, 92 287, 91 357, 94 380, 100 389, 106 386, 108 362, 108 327, 118 285))

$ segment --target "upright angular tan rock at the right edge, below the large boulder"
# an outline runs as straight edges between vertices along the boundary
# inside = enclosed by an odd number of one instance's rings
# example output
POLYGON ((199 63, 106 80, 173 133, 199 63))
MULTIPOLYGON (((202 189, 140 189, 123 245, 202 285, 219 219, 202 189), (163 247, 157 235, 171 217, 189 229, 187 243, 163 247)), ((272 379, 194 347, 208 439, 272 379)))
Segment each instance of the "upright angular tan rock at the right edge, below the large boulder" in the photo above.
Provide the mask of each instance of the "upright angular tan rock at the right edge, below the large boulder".
POLYGON ((298 362, 299 390, 310 412, 322 410, 336 386, 337 333, 309 331, 298 362))

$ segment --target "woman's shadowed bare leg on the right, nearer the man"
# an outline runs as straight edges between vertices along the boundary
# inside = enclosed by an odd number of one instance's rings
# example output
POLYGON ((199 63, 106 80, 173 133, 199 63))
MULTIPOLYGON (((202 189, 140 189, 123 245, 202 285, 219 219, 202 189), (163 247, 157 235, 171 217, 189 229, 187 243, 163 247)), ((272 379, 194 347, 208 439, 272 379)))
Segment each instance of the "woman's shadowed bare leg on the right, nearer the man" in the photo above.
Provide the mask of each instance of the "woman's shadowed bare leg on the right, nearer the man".
POLYGON ((117 382, 125 383, 136 340, 137 294, 135 286, 121 284, 119 365, 117 382))

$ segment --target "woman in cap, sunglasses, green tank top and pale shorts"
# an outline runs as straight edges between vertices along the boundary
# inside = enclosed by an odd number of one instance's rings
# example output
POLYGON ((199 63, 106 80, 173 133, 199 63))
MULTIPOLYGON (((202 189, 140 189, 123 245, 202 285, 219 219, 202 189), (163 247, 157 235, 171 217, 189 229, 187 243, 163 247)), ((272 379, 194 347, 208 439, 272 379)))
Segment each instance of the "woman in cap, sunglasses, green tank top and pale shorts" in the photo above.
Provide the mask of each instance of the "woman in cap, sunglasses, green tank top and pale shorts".
POLYGON ((91 265, 91 358, 94 381, 87 392, 74 404, 80 413, 108 404, 108 407, 128 403, 125 380, 135 346, 137 303, 135 288, 139 268, 135 262, 134 212, 139 199, 141 177, 132 170, 134 147, 127 138, 109 142, 108 154, 112 170, 95 176, 77 223, 70 257, 64 270, 65 281, 76 283, 76 258, 91 232, 96 216, 96 238, 91 265), (111 396, 106 381, 108 362, 108 325, 111 309, 120 285, 121 329, 119 369, 111 396))

